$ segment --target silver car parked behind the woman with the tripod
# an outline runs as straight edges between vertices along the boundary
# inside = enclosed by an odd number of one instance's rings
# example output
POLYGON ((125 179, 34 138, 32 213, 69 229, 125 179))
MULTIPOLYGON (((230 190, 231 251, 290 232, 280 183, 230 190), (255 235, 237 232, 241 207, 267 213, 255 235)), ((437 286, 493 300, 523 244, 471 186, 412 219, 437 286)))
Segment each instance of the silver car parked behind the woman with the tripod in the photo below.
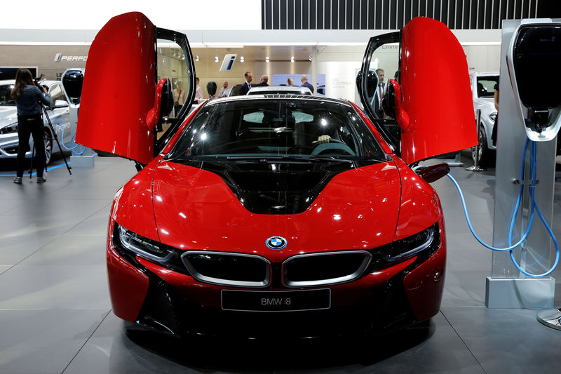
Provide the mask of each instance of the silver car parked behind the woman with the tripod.
MULTIPOLYGON (((11 98, 10 92, 15 81, 0 81, 0 159, 15 159, 18 156, 18 111, 15 101, 11 98)), ((76 133, 76 123, 71 123, 68 98, 62 88, 60 81, 41 81, 41 86, 48 88, 53 109, 47 110, 48 116, 58 140, 69 146, 76 133), (64 137, 62 136, 64 133, 64 137)), ((48 126, 47 119, 43 115, 45 156, 46 163, 50 162, 53 152, 59 152, 56 144, 53 146, 53 133, 48 126)), ((33 138, 29 138, 29 151, 25 154, 26 158, 32 156, 33 138)))

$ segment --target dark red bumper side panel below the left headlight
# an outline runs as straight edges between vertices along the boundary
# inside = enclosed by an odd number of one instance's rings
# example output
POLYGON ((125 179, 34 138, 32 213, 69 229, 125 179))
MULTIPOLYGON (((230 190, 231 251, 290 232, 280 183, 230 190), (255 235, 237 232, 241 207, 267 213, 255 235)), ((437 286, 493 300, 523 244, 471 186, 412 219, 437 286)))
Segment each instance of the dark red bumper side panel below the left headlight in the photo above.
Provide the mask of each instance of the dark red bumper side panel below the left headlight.
MULTIPOLYGON (((113 226, 110 220, 109 233, 113 226)), ((107 238, 107 278, 114 314, 125 321, 135 321, 146 298, 149 279, 114 251, 111 234, 107 238)))

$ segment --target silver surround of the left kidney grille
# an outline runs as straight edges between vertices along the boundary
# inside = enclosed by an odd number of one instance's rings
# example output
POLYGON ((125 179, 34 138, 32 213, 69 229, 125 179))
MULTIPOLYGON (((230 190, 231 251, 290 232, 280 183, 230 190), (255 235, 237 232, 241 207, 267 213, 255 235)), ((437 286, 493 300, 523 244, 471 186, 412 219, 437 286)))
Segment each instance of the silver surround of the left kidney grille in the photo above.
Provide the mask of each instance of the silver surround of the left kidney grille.
POLYGON ((271 262, 266 258, 259 256, 259 255, 250 255, 248 253, 237 253, 237 252, 220 252, 220 251, 187 251, 181 255, 181 260, 187 270, 189 270, 189 274, 193 276, 194 279, 197 281, 201 281, 203 283, 210 283, 215 284, 217 286, 234 286, 234 287, 267 287, 269 283, 271 283, 271 262), (249 282, 249 281, 232 281, 230 279, 222 279, 222 278, 213 278, 212 276, 205 276, 196 271, 196 269, 191 265, 189 261, 189 255, 196 254, 196 255, 223 255, 223 256, 236 256, 236 257, 250 257, 250 258, 257 258, 265 262, 268 267, 268 272, 265 276, 263 281, 259 282, 249 282))

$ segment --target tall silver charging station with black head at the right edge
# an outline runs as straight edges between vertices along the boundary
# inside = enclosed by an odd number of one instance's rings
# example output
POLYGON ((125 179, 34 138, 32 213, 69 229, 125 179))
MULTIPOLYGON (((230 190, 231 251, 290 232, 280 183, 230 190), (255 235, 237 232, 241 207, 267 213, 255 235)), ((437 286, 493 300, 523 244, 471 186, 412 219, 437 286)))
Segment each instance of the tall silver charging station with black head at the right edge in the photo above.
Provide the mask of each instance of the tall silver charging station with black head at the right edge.
MULTIPOLYGON (((555 139, 561 126, 559 70, 561 20, 504 20, 499 83, 499 127, 496 152, 493 246, 506 248, 525 234, 534 206, 549 226, 553 218, 555 139), (531 78, 539 76, 539 79, 531 78), (531 80, 530 80, 531 79, 531 80), (557 83, 556 83, 557 82, 557 83), (546 87, 547 86, 547 87, 546 87), (525 142, 535 142, 539 163, 531 165, 525 142), (525 160, 525 175, 520 165, 525 160), (536 168, 534 187, 529 171, 536 168), (513 222, 515 202, 522 214, 513 222), (530 189, 534 188, 535 193, 530 189), (532 205, 532 199, 535 205, 532 205), (513 239, 514 238, 514 239, 513 239)), ((539 218, 527 239, 513 250, 513 258, 525 272, 544 274, 552 267, 552 239, 539 218)), ((529 277, 511 260, 508 252, 492 253, 492 274, 487 277, 485 305, 489 308, 552 308, 553 277, 529 277)))

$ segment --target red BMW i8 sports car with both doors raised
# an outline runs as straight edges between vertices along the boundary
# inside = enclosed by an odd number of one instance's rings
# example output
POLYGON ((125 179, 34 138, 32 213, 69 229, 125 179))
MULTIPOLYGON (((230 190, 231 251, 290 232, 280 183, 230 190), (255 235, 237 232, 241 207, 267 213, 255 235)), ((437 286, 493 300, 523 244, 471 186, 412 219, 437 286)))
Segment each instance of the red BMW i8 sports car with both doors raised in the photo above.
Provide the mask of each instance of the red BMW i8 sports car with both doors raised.
POLYGON ((446 240, 428 182, 447 171, 410 166, 477 142, 466 58, 445 25, 415 18, 370 40, 364 109, 253 95, 189 114, 187 39, 142 13, 103 27, 86 72, 77 141, 140 170, 107 232, 121 319, 174 335, 309 337, 438 312, 446 240), (399 81, 383 84, 375 69, 392 63, 399 81))

